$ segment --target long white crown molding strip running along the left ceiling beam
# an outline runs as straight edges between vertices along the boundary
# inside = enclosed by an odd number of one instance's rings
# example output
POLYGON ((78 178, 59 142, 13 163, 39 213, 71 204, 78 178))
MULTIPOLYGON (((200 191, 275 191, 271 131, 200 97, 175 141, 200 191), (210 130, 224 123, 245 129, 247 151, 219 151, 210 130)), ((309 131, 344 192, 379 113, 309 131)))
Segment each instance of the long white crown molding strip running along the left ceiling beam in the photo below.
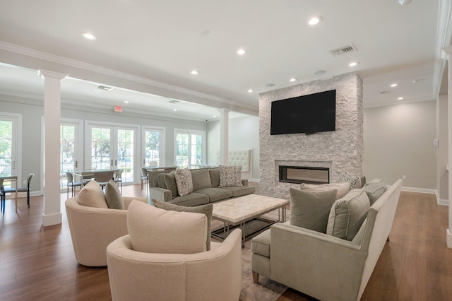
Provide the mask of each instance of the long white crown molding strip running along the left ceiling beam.
MULTIPOLYGON (((31 49, 28 47, 23 47, 23 46, 19 46, 19 45, 14 45, 8 42, 4 42, 4 41, 0 41, 0 49, 4 49, 8 52, 14 52, 17 54, 22 54, 28 57, 34 57, 35 59, 42 59, 45 61, 51 61, 53 63, 57 63, 57 64, 62 64, 64 66, 71 66, 73 68, 77 68, 77 69, 83 69, 86 71, 91 71, 91 72, 95 72, 95 73, 101 73, 107 76, 113 76, 115 78, 121 78, 124 79, 126 81, 131 81, 131 82, 135 82, 135 83, 142 83, 144 85, 149 85, 151 87, 155 87, 155 88, 161 88, 161 89, 165 89, 165 90, 170 90, 170 91, 174 91, 177 93, 183 93, 186 95, 191 95, 194 96, 196 98, 203 98, 206 100, 212 100, 215 102, 220 102, 220 103, 224 103, 227 104, 228 106, 236 106, 236 107, 243 107, 245 109, 248 110, 257 110, 256 107, 251 106, 251 105, 246 105, 244 103, 241 102, 235 102, 233 100, 229 100, 227 98, 220 98, 218 96, 215 95, 210 95, 207 93, 202 93, 202 92, 198 92, 195 90, 190 90, 190 89, 186 89, 186 88, 182 88, 182 87, 178 87, 176 85, 170 85, 167 83, 162 83, 160 81, 154 81, 148 78, 143 78, 141 76, 134 76, 132 74, 129 73, 124 73, 121 71, 115 71, 112 69, 107 69, 105 67, 102 66, 96 66, 93 64, 88 64, 88 63, 84 63, 83 61, 76 61, 75 59, 69 59, 66 57, 60 57, 57 56, 55 54, 49 54, 47 52, 41 52, 35 49, 31 49)), ((25 66, 26 67, 26 66, 25 66)), ((70 76, 70 75, 69 75, 70 76)))

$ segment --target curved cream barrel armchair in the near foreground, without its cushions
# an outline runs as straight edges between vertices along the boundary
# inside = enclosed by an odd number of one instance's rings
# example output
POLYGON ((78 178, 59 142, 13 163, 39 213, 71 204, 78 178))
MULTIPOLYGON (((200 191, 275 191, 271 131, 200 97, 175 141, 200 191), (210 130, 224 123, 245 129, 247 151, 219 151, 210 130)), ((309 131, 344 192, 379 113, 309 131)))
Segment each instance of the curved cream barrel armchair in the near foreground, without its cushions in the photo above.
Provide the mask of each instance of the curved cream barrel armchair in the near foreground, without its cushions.
POLYGON ((236 229, 195 254, 136 252, 129 235, 119 237, 107 247, 112 300, 239 300, 241 237, 236 229))

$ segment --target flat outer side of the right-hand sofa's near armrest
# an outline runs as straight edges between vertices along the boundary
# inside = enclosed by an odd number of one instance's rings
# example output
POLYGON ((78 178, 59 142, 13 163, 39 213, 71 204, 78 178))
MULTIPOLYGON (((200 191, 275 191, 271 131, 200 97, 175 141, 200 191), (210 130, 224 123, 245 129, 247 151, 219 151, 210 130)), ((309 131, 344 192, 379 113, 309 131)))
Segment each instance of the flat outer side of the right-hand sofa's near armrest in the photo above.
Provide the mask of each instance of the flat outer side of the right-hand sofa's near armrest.
POLYGON ((319 300, 357 300, 367 252, 289 223, 271 226, 271 278, 319 300))

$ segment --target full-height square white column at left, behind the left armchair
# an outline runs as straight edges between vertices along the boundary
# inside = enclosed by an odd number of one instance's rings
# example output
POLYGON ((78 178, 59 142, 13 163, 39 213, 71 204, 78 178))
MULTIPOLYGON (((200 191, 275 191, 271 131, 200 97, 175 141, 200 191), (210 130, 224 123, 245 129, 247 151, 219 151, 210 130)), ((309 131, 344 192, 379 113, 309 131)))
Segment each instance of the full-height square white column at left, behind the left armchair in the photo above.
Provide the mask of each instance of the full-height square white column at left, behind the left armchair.
POLYGON ((40 70, 44 78, 44 212, 42 225, 61 224, 59 188, 61 80, 65 74, 40 70))

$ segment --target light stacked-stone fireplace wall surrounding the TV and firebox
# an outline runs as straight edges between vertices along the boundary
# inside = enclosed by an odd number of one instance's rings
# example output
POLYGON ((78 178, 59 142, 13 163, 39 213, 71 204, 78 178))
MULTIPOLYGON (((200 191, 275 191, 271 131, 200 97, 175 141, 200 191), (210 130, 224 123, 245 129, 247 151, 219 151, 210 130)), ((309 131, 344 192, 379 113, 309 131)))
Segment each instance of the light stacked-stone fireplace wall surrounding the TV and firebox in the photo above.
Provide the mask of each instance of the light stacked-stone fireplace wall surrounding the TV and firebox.
MULTIPOLYGON (((300 181, 337 182, 345 173, 362 175, 362 115, 362 78, 357 73, 262 93, 259 96, 261 194, 287 199, 290 187, 299 189, 300 181), (333 89, 336 89, 335 131, 270 135, 272 101, 333 89), (289 177, 295 180, 280 181, 281 166, 293 167, 289 170, 289 177), (300 176, 297 169, 306 171, 307 167, 316 172, 300 176), (321 179, 311 180, 312 175, 317 177, 318 171, 322 170, 321 179), (307 179, 298 179, 300 177, 307 179)), ((287 174, 283 176, 287 177, 287 174)))

